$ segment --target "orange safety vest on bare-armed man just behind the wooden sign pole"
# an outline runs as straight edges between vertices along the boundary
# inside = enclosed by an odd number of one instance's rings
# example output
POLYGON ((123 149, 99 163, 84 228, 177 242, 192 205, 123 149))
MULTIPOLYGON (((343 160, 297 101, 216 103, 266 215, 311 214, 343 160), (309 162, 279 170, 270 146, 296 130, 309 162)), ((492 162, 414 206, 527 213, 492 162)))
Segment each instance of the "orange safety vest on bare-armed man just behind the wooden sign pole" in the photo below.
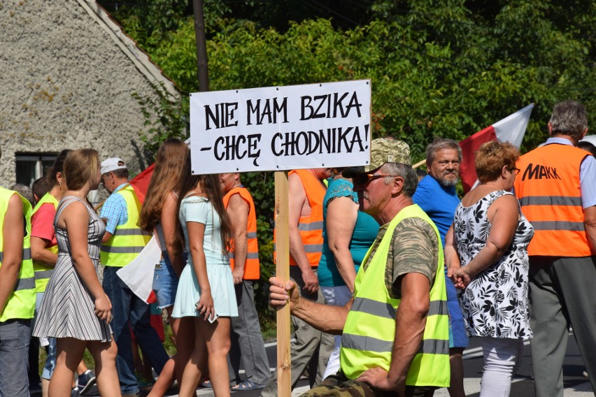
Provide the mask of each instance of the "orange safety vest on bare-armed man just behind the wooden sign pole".
MULTIPOLYGON (((288 175, 296 173, 302 182, 302 187, 306 192, 306 199, 311 206, 311 215, 308 217, 300 217, 298 222, 298 230, 302 238, 302 245, 304 252, 308 257, 308 263, 311 266, 319 266, 322 252, 322 201, 325 197, 325 187, 321 181, 308 170, 292 170, 288 175)), ((290 266, 297 266, 296 261, 290 255, 290 266)))

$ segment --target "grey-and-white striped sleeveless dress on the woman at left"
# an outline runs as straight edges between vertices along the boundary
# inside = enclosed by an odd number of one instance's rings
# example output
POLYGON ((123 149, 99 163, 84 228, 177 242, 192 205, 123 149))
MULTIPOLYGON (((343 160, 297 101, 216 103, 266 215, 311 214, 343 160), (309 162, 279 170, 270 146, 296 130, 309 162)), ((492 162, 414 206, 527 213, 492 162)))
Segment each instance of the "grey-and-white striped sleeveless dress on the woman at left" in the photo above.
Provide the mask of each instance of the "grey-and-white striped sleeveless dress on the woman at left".
MULTIPOLYGON (((34 336, 54 338, 76 338, 80 340, 111 341, 111 328, 100 320, 94 312, 94 299, 73 264, 69 239, 66 230, 59 229, 56 219, 64 208, 74 201, 81 201, 74 196, 66 196, 60 201, 54 227, 58 242, 58 261, 48 287, 45 290, 41 308, 38 312, 34 336)), ((104 222, 81 201, 89 211, 88 250, 89 256, 97 269, 99 266, 99 244, 104 236, 104 222)))

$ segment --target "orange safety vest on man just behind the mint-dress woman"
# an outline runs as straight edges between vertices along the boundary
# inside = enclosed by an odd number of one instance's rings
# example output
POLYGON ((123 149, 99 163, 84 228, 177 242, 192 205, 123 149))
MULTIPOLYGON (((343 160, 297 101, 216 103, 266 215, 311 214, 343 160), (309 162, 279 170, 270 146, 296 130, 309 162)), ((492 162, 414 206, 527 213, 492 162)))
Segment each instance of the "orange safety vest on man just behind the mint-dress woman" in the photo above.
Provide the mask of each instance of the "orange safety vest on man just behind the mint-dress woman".
MULTIPOLYGON (((255 212, 255 203, 253 196, 243 186, 236 186, 227 192, 224 196, 224 206, 227 209, 229 198, 234 194, 240 194, 241 198, 248 203, 248 224, 247 224, 247 243, 248 250, 246 251, 246 264, 244 265, 244 280, 259 280, 260 266, 259 266, 259 243, 257 242, 257 214, 255 212)), ((229 265, 234 270, 234 241, 232 240, 232 252, 229 252, 229 265)))

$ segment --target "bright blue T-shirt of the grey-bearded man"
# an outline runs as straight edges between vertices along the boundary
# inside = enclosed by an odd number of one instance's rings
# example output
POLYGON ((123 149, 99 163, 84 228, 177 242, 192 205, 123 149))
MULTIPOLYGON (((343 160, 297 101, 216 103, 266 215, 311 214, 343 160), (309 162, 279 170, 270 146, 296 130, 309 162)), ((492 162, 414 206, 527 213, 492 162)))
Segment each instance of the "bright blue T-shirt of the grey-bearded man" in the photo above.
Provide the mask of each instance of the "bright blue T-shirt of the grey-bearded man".
POLYGON ((441 235, 441 244, 445 247, 445 235, 453 224, 455 208, 460 203, 455 186, 444 187, 431 175, 426 175, 423 180, 418 182, 412 200, 420 205, 420 208, 437 225, 441 235))

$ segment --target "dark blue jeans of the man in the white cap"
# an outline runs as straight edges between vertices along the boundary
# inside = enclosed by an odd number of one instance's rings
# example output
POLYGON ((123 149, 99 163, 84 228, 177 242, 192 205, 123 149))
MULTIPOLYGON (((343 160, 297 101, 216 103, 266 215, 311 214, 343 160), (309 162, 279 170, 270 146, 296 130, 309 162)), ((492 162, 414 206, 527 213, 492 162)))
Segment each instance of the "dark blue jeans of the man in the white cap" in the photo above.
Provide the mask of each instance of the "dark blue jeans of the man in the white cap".
POLYGON ((127 287, 116 272, 120 268, 106 266, 104 268, 104 291, 112 301, 112 322, 118 356, 116 369, 120 378, 122 394, 139 393, 139 384, 134 375, 134 358, 132 355, 130 327, 136 342, 149 359, 157 374, 162 372, 169 356, 159 340, 157 331, 150 324, 150 308, 127 287))

